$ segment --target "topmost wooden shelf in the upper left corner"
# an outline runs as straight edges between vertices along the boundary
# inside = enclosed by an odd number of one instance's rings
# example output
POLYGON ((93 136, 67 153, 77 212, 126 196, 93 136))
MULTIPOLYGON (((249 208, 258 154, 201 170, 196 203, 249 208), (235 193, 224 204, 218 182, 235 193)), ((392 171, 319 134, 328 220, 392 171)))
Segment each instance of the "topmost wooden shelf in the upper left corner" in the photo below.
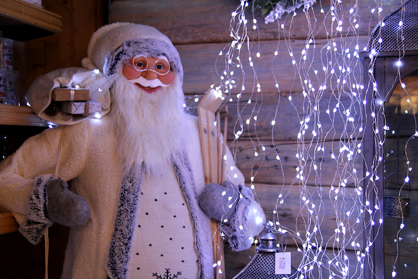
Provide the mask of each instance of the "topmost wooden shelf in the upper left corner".
POLYGON ((62 17, 21 0, 0 0, 3 37, 26 41, 60 33, 62 17))

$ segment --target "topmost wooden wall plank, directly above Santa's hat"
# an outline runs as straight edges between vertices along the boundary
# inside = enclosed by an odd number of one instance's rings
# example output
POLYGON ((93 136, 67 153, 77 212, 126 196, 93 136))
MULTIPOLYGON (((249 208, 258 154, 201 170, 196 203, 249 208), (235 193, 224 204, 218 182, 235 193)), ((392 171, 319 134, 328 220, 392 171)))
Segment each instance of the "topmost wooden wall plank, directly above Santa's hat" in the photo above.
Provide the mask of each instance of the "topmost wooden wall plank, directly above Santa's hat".
MULTIPOLYGON (((250 2, 249 2, 250 3, 250 2)), ((229 26, 231 13, 235 11, 240 2, 234 0, 159 0, 158 4, 152 1, 136 0, 116 0, 112 1, 109 11, 109 22, 133 22, 150 25, 166 34, 174 44, 196 44, 208 42, 230 42, 229 26), (164 20, 161 20, 161 19, 164 20)), ((339 36, 335 30, 331 32, 332 15, 330 14, 329 1, 317 1, 313 5, 313 10, 309 9, 306 15, 303 8, 297 10, 297 16, 285 14, 279 23, 265 24, 261 11, 256 10, 253 14, 250 6, 246 8, 245 16, 249 19, 247 24, 248 35, 250 38, 260 40, 276 40, 277 38, 291 37, 291 39, 306 39, 311 34, 316 38, 326 38, 327 36, 339 36), (324 13, 321 13, 324 9, 324 13), (258 30, 253 31, 253 24, 250 20, 257 20, 258 30), (309 22, 309 24, 308 24, 309 22), (328 28, 324 28, 324 23, 328 28), (278 26, 284 25, 284 29, 278 30, 278 26), (291 27, 291 31, 289 31, 291 27)), ((377 10, 374 0, 363 1, 341 1, 336 4, 335 10, 342 20, 342 35, 356 33, 368 35, 380 18, 390 11, 399 7, 400 3, 396 0, 379 2, 383 9, 382 13, 371 13, 371 9, 377 10), (357 4, 357 8, 355 7, 357 4), (349 12, 350 8, 355 8, 355 13, 349 12), (341 12, 344 11, 344 12, 341 12), (350 20, 351 19, 351 20, 350 20), (353 23, 353 20, 356 22, 353 23), (350 27, 350 23, 353 25, 350 27), (359 27, 356 29, 355 24, 359 27), (369 27, 370 25, 370 27, 369 27)), ((238 20, 237 20, 238 21, 238 20)))

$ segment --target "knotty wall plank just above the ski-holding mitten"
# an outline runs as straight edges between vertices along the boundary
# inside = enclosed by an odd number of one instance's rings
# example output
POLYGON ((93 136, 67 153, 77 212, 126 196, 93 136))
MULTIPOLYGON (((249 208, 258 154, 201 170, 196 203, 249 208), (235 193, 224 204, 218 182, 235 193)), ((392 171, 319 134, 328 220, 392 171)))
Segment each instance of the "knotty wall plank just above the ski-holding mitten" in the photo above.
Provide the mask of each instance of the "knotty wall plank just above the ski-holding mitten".
MULTIPOLYGON (((236 152, 237 167, 244 174, 246 183, 251 183, 251 177, 254 177, 254 183, 266 184, 286 184, 290 185, 295 181, 299 185, 299 180, 296 178, 299 167, 299 159, 296 157, 299 146, 296 142, 291 144, 280 144, 280 142, 271 141, 251 142, 238 141, 237 145, 230 147, 232 152, 236 152), (254 145, 255 147, 254 147, 254 145), (265 147, 263 151, 262 147, 265 147), (258 156, 255 156, 255 152, 258 156), (280 160, 277 160, 276 156, 280 160)), ((306 156, 305 161, 302 161, 304 166, 303 176, 306 184, 310 186, 338 186, 340 179, 347 179, 346 186, 353 187, 358 184, 353 177, 353 168, 357 171, 357 179, 361 177, 362 158, 358 155, 355 160, 351 161, 344 169, 339 160, 347 160, 347 151, 343 156, 338 158, 339 150, 342 144, 337 140, 334 142, 324 142, 320 145, 324 147, 324 151, 318 151, 315 143, 312 144, 309 155, 306 156), (331 158, 331 154, 335 154, 338 161, 331 158), (317 170, 314 169, 313 164, 317 165, 317 170)), ((303 148, 308 149, 308 144, 303 148)), ((299 169, 299 172, 301 169, 299 169)))

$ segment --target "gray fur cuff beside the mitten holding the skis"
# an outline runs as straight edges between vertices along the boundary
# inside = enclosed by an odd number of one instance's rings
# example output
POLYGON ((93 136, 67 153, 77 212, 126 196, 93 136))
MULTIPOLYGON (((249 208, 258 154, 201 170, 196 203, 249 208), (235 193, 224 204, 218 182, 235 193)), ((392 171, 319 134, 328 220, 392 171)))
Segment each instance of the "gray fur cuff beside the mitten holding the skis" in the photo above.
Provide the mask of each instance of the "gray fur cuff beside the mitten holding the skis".
POLYGON ((242 185, 239 185, 239 192, 242 198, 238 201, 237 210, 231 219, 231 225, 221 227, 221 231, 228 237, 229 246, 233 251, 243 251, 251 247, 248 236, 239 226, 245 227, 248 223, 248 207, 254 202, 254 194, 250 188, 242 185))

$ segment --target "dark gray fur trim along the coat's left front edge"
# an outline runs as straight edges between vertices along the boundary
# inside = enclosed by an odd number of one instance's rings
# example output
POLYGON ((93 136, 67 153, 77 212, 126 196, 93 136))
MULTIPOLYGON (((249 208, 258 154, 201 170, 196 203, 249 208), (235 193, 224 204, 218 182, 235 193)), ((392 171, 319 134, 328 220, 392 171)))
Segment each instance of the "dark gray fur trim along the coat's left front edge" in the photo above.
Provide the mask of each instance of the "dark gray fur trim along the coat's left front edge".
POLYGON ((145 167, 142 166, 138 175, 134 168, 131 168, 123 177, 120 186, 119 207, 107 261, 108 278, 111 279, 127 278, 129 251, 132 245, 144 170, 145 167))

